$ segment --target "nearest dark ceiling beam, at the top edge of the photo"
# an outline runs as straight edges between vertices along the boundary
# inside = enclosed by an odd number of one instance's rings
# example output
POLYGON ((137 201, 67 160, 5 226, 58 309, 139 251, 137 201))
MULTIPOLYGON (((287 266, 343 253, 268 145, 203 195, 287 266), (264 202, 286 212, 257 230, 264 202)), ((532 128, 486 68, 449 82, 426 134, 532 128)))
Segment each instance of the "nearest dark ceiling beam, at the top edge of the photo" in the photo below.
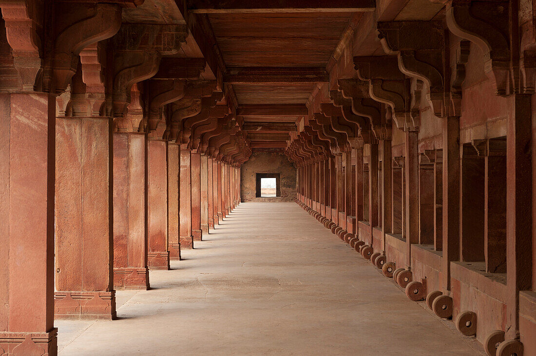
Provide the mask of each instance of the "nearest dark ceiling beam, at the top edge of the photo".
POLYGON ((188 10, 194 13, 260 13, 260 12, 360 12, 374 11, 374 0, 188 0, 188 10))

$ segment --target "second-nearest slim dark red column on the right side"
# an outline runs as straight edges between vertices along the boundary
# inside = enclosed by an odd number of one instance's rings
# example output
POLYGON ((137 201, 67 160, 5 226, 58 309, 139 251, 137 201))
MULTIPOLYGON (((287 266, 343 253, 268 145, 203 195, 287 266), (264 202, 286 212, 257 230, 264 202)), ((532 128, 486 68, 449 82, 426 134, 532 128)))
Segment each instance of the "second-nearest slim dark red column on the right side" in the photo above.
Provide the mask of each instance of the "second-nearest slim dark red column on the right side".
POLYGON ((442 291, 450 290, 450 262, 460 256, 460 118, 443 119, 442 291))

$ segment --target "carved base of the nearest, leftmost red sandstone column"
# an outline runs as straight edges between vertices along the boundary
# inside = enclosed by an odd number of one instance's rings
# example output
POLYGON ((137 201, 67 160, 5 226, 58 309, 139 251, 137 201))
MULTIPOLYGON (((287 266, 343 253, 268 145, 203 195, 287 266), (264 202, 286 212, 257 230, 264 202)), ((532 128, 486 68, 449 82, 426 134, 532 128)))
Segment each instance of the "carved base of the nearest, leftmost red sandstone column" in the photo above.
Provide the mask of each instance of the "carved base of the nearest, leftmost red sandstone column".
POLYGON ((49 332, 0 332, 0 355, 56 355, 58 329, 49 332))

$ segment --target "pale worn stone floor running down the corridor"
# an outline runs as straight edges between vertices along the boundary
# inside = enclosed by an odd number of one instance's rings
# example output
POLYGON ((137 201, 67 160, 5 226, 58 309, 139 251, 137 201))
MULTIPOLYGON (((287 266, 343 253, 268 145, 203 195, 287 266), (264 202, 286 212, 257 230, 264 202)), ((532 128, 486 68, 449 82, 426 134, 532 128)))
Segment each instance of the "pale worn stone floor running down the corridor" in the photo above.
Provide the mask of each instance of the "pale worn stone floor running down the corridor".
POLYGON ((57 321, 60 355, 475 355, 472 338, 296 203, 242 203, 116 321, 57 321))

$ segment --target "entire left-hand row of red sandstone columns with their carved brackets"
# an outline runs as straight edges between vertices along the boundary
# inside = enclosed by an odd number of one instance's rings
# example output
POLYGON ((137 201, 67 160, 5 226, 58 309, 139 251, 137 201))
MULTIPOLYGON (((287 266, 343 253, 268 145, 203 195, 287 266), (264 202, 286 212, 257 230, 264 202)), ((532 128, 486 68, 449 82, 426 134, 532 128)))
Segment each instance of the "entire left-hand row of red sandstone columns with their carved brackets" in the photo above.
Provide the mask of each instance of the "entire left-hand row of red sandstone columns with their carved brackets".
POLYGON ((122 24, 142 3, 0 2, 0 354, 115 319, 116 290, 150 289, 239 204, 228 93, 170 57, 185 25, 122 24))

